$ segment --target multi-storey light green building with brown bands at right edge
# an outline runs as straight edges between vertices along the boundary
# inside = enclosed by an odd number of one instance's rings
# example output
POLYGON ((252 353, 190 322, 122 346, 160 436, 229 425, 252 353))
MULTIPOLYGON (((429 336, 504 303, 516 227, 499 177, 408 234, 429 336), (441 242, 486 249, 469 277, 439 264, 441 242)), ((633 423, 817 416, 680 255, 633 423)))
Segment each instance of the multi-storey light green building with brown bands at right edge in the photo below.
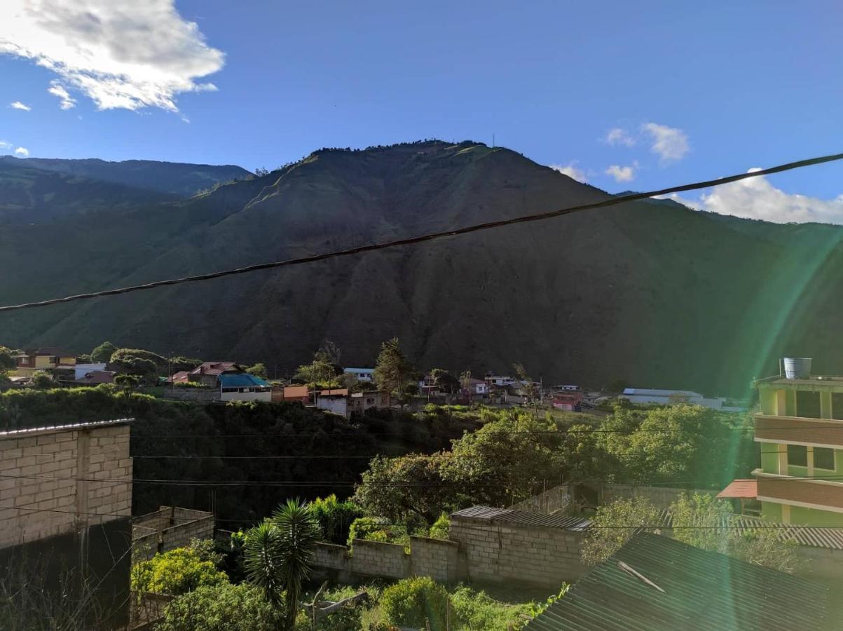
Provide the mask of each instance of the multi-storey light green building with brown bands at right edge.
POLYGON ((754 471, 765 518, 843 526, 843 377, 758 380, 754 471))

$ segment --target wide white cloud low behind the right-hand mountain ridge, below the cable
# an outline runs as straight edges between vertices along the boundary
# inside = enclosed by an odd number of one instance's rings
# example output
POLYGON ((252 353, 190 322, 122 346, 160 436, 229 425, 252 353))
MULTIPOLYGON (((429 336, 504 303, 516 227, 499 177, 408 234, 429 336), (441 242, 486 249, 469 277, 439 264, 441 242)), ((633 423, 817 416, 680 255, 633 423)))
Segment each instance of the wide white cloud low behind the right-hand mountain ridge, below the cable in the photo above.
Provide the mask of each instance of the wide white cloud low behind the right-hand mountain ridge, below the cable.
MULTIPOLYGON (((758 169, 750 169, 754 171, 758 169)), ((834 199, 819 199, 782 191, 763 175, 715 186, 711 193, 699 200, 677 195, 668 197, 690 208, 724 215, 763 219, 774 224, 818 222, 843 224, 843 195, 834 199)))

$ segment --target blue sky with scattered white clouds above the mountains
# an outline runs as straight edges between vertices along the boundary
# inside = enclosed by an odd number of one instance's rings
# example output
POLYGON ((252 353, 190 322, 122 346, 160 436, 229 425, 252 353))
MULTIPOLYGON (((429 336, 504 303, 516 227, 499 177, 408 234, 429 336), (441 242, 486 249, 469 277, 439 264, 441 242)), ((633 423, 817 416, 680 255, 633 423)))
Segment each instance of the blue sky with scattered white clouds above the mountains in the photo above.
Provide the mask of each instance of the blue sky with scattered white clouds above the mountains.
MULTIPOLYGON (((843 152, 833 2, 3 0, 0 154, 272 169, 421 138, 607 191, 843 152)), ((843 162, 679 201, 843 224, 843 162)))

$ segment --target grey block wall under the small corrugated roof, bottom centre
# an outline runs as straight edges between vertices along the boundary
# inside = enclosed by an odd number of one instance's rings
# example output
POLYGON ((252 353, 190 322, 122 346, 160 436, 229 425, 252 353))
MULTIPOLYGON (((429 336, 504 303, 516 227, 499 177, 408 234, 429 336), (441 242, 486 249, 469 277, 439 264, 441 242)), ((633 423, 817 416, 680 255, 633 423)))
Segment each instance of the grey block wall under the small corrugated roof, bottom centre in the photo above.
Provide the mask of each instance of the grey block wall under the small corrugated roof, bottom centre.
POLYGON ((585 532, 451 517, 451 541, 459 543, 467 580, 519 580, 556 586, 585 572, 585 532))

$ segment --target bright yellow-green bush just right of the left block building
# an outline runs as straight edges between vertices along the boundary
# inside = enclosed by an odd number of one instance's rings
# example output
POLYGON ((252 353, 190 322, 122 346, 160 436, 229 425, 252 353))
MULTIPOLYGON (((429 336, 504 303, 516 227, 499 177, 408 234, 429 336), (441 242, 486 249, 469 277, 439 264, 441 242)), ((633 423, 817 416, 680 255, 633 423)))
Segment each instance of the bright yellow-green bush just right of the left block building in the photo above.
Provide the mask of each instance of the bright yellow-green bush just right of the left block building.
POLYGON ((180 596, 200 587, 228 583, 212 560, 192 547, 177 547, 132 568, 132 590, 180 596))

